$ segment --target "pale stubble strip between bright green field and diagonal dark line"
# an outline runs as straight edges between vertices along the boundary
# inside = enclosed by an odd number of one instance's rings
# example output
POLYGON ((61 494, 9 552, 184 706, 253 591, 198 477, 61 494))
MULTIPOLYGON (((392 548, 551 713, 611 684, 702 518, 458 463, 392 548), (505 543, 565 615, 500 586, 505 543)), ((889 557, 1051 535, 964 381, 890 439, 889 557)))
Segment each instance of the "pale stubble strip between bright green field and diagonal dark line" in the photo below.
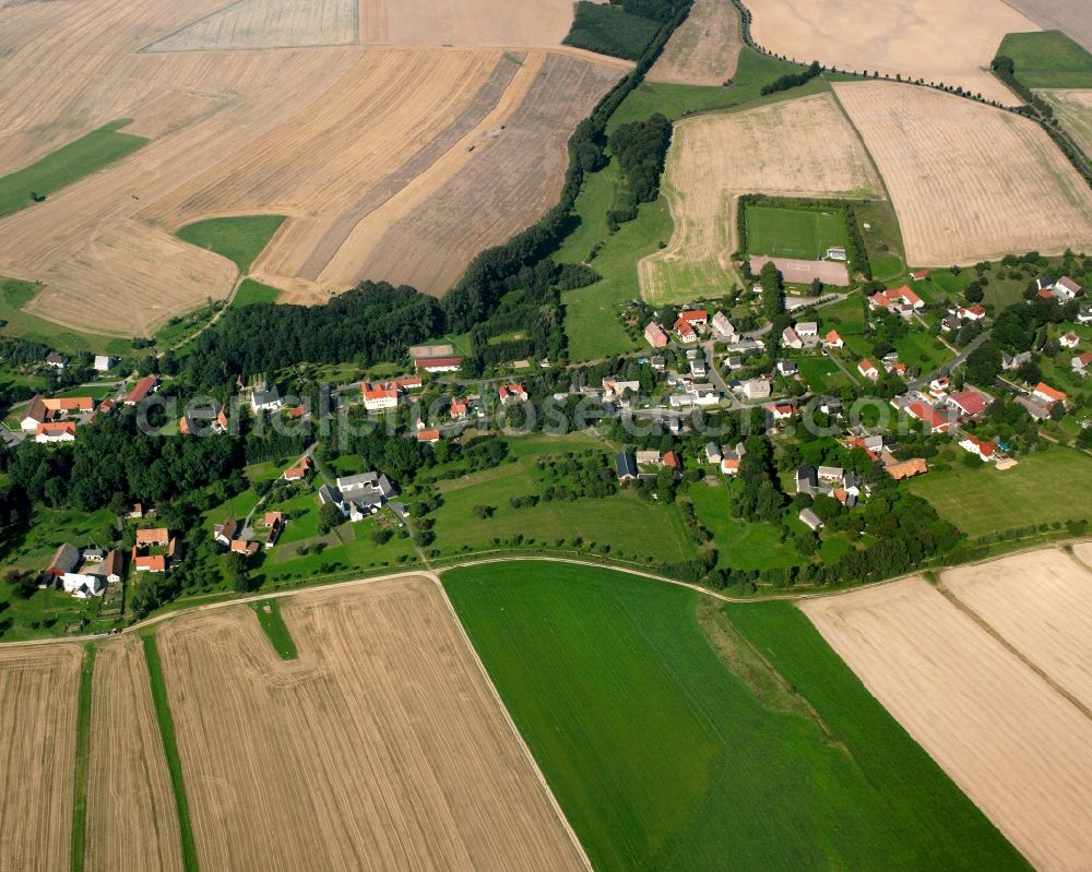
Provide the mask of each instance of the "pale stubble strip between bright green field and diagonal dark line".
POLYGON ((810 599, 802 608, 1036 869, 1087 868, 1087 712, 923 578, 810 599))

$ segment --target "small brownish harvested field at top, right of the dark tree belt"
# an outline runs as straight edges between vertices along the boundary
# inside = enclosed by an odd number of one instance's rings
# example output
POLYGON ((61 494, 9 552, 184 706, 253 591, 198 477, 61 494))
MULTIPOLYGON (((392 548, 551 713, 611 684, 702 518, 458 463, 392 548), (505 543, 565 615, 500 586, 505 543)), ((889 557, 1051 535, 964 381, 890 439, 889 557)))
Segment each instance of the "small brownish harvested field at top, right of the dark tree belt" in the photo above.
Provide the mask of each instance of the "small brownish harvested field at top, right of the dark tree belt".
POLYGON ((677 85, 723 85, 736 74, 741 48, 739 13, 732 0, 695 0, 645 77, 677 85))

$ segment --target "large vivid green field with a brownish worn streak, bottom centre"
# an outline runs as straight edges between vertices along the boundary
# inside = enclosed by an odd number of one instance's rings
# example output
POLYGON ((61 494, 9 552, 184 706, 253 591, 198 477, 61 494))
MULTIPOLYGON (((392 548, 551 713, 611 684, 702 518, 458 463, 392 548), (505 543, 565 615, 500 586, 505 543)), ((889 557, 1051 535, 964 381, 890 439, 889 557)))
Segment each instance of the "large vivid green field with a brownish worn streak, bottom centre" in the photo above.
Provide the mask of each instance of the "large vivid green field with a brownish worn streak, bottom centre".
POLYGON ((600 872, 1028 868, 787 604, 737 629, 609 570, 443 584, 600 872))

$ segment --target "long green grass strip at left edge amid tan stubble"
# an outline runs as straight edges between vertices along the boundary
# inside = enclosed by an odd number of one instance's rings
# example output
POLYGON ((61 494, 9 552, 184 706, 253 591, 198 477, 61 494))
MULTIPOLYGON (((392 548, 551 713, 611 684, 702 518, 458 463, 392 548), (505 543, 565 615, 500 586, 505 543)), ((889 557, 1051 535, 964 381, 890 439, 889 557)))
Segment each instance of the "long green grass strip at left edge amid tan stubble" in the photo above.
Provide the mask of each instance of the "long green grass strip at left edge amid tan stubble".
POLYGON ((112 121, 23 169, 0 176, 0 215, 33 206, 32 192, 48 196, 145 145, 149 141, 143 136, 118 132, 131 120, 112 121))

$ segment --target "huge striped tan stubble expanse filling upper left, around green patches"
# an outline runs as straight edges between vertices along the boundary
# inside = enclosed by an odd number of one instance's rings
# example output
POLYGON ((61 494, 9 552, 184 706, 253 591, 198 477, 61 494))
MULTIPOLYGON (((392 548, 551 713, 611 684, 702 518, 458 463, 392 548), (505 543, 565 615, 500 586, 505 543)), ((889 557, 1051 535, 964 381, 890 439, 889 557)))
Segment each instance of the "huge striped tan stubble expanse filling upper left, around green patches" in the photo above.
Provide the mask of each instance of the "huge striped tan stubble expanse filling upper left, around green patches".
POLYGON ((256 273, 288 300, 324 300, 368 265, 341 250, 357 224, 416 182, 401 204, 413 217, 410 203, 432 208, 451 182, 458 202, 420 218, 447 235, 446 270, 423 276, 440 294, 483 238, 503 241, 551 205, 565 139, 630 67, 558 47, 571 15, 558 0, 0 7, 0 172, 118 118, 152 140, 0 219, 0 276, 41 283, 38 315, 146 335, 235 286, 227 261, 171 239, 179 226, 282 214, 256 273), (524 106, 558 59, 566 99, 524 106), (518 195, 477 183, 497 172, 518 195))

